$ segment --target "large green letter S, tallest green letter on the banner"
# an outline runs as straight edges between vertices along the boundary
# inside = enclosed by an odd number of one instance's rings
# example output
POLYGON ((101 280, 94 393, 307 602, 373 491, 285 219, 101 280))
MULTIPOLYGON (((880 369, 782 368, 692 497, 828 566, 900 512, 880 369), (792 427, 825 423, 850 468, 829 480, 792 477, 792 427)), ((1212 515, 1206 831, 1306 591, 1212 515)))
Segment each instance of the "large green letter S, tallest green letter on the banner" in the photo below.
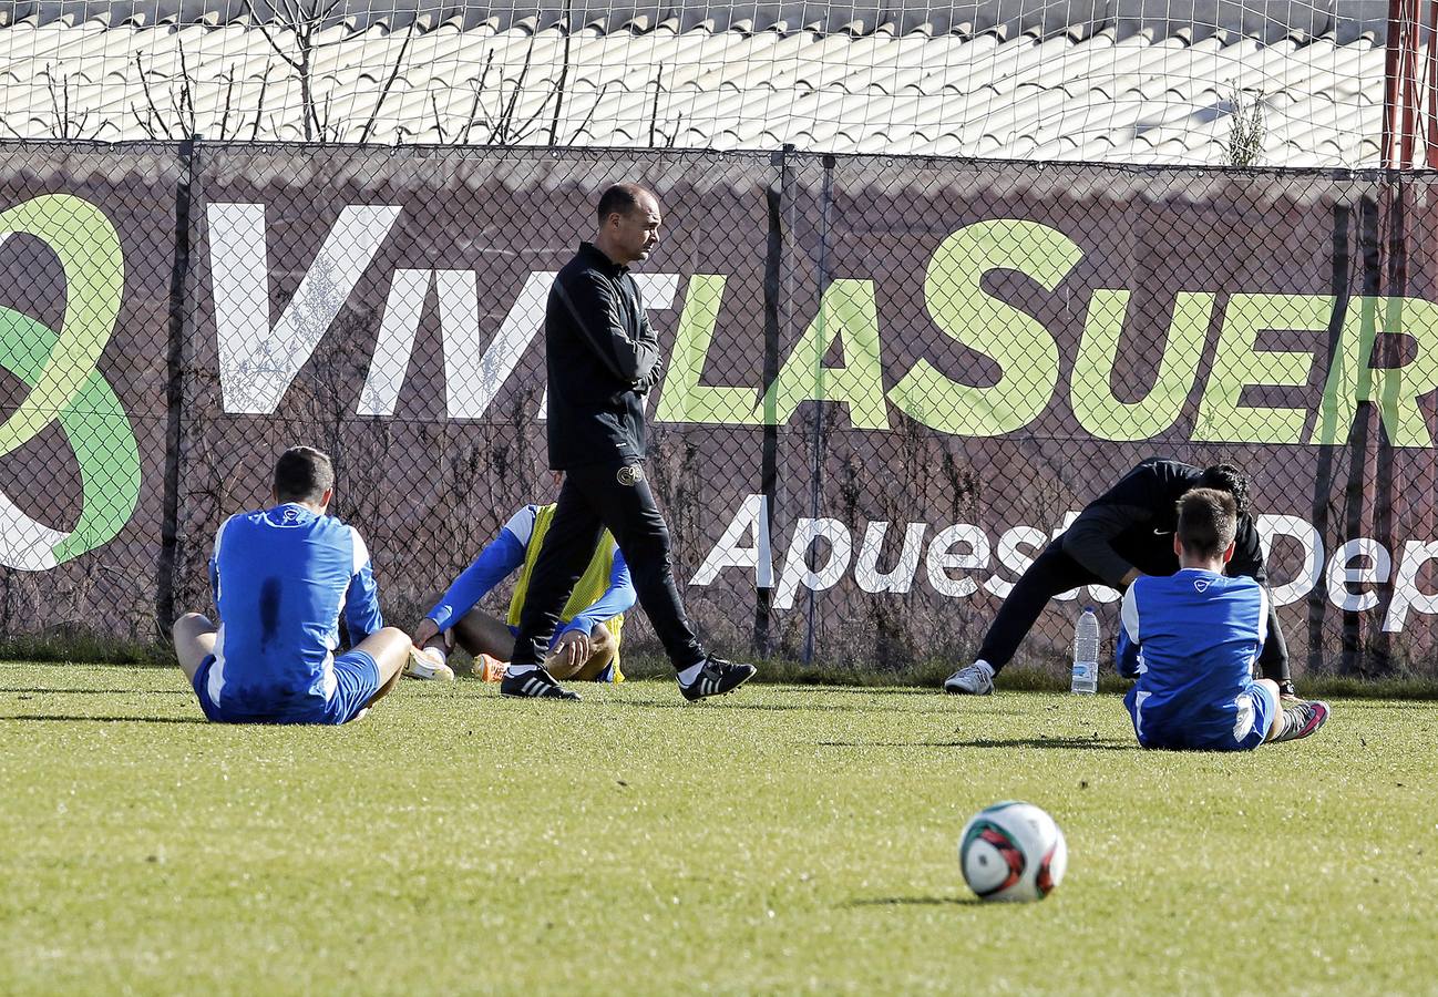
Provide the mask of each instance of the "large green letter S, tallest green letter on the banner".
POLYGON ((889 397, 942 433, 999 436, 1031 423, 1058 384, 1058 344, 1038 319, 985 293, 984 275, 1018 270, 1053 291, 1080 259, 1077 243, 1037 222, 979 222, 951 235, 923 281, 929 314, 953 340, 992 357, 1002 375, 991 387, 959 384, 920 360, 889 397))

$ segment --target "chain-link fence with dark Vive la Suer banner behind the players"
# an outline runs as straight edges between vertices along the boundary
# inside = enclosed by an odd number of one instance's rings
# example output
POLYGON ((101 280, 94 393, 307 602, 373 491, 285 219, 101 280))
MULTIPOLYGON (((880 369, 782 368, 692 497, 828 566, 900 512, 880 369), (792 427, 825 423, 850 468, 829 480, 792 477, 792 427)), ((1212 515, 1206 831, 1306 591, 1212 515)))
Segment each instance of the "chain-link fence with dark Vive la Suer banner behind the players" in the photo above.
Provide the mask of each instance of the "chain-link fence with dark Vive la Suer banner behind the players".
MULTIPOLYGON (((666 213, 649 475, 715 646, 963 662, 1166 455, 1251 475, 1297 672, 1438 673, 1431 177, 794 152, 0 145, 0 630, 207 609, 298 442, 416 623, 555 493, 545 295, 621 178, 666 213)), ((1113 634, 1093 588, 1022 656, 1083 601, 1113 634)))

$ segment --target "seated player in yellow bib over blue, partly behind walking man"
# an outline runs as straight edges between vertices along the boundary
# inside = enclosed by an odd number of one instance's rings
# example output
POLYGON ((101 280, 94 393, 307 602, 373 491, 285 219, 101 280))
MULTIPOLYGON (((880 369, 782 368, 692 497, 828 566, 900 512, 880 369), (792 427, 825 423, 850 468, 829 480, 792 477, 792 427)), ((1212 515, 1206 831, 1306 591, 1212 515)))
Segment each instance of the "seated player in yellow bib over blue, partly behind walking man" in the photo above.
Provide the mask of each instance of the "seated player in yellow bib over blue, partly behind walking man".
MULTIPOLYGON (((509 518, 479 558, 454 580, 414 632, 417 650, 406 675, 418 679, 452 679, 447 656, 457 642, 475 656, 476 673, 498 682, 513 656, 519 614, 529 593, 544 537, 554 521, 554 505, 526 505, 509 518), (519 570, 509 613, 503 622, 475 609, 503 578, 519 570)), ((544 668, 557 679, 623 682, 620 634, 624 611, 634 606, 634 583, 614 537, 600 535, 594 557, 561 613, 544 668)))

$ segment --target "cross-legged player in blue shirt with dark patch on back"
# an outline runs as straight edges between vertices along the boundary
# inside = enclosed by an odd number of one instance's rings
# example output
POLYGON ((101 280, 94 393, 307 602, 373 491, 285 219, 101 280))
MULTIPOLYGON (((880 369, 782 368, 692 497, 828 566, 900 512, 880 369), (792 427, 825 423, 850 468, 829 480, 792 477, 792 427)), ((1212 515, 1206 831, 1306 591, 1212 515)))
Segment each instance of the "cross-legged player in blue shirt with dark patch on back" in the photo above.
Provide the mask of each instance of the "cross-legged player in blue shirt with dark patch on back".
POLYGON ((325 515, 329 457, 308 446, 275 465, 275 505, 214 534, 220 624, 186 613, 175 656, 204 715, 226 724, 345 724, 394 688, 410 637, 384 626, 360 531, 325 515), (344 613, 352 649, 339 647, 344 613))

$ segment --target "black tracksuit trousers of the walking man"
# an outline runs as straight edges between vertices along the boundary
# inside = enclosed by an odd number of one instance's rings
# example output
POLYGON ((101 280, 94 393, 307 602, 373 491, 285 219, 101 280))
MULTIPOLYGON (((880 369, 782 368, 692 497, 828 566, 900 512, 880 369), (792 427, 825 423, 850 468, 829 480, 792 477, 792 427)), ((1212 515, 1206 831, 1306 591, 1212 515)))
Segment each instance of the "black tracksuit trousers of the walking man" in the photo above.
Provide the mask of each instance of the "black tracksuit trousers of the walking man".
POLYGON ((559 614, 608 527, 674 670, 697 665, 705 650, 684 617, 670 560, 669 525, 654 505, 643 465, 611 462, 567 468, 559 502, 539 548, 519 614, 515 665, 545 659, 559 614))

